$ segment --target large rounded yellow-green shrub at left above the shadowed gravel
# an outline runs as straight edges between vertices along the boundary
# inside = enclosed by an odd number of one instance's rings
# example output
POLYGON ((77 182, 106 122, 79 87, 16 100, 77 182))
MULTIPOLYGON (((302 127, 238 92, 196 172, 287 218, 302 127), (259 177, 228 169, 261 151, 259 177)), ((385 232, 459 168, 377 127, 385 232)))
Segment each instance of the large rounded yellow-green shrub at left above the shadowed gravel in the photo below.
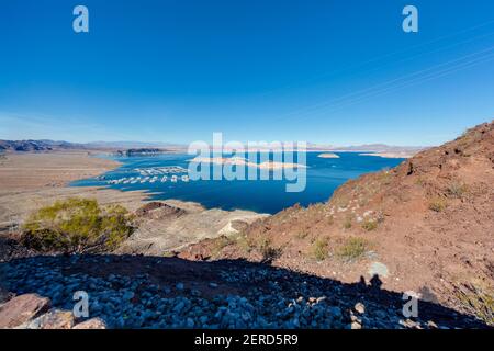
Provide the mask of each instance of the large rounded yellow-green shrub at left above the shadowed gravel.
POLYGON ((132 219, 120 205, 102 207, 92 199, 71 197, 33 213, 22 239, 40 251, 113 250, 132 234, 132 219))

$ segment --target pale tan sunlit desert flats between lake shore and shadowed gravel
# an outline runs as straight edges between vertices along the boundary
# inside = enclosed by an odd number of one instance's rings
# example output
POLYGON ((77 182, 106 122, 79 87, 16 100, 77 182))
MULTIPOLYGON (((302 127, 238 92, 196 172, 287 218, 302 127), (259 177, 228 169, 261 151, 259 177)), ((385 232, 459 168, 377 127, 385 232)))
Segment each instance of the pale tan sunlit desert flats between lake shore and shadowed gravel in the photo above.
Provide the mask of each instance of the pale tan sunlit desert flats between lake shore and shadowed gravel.
MULTIPOLYGON (((53 151, 7 154, 0 159, 0 234, 18 231, 34 211, 68 197, 96 199, 120 204, 130 212, 150 203, 149 194, 92 186, 68 186, 71 181, 100 176, 120 163, 94 157, 97 152, 53 151)), ((138 220, 138 228, 120 252, 164 254, 184 245, 222 234, 234 234, 260 215, 249 211, 206 210, 197 203, 164 201, 138 220), (170 212, 171 208, 171 212, 170 212)))

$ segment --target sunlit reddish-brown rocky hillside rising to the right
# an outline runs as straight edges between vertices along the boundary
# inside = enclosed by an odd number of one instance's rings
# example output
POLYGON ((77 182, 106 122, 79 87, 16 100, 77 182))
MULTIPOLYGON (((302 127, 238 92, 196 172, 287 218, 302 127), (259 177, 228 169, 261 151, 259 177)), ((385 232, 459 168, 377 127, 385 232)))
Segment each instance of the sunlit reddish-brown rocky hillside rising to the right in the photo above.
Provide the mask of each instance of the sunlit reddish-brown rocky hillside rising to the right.
POLYGON ((327 203, 288 208, 181 257, 270 261, 343 282, 378 274, 388 290, 492 324, 494 123, 349 181, 327 203))

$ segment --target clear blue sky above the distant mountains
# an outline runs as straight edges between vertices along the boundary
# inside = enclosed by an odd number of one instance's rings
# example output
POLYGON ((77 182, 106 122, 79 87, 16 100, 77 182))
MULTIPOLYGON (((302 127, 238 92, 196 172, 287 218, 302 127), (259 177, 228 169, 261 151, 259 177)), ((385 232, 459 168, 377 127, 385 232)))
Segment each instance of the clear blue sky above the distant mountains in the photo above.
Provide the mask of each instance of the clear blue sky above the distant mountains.
POLYGON ((2 1, 0 47, 7 139, 437 145, 494 118, 492 0, 2 1))

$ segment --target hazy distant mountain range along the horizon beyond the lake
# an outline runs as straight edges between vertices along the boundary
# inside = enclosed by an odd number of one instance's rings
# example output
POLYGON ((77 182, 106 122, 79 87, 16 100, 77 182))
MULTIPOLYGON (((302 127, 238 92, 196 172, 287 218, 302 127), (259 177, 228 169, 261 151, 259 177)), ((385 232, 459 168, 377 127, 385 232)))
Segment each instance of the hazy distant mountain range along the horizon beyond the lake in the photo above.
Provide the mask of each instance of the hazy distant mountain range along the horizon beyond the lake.
MULTIPOLYGON (((69 143, 60 140, 0 140, 0 151, 54 151, 54 150, 76 150, 76 149, 141 149, 154 148, 160 150, 186 150, 187 145, 167 143, 143 143, 143 141, 93 141, 87 144, 69 143)), ((390 146, 385 144, 367 144, 358 146, 333 146, 322 144, 308 144, 308 150, 321 151, 355 151, 355 152, 411 152, 425 149, 417 146, 390 146)))

